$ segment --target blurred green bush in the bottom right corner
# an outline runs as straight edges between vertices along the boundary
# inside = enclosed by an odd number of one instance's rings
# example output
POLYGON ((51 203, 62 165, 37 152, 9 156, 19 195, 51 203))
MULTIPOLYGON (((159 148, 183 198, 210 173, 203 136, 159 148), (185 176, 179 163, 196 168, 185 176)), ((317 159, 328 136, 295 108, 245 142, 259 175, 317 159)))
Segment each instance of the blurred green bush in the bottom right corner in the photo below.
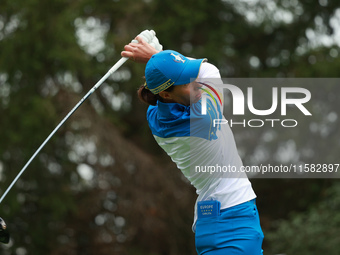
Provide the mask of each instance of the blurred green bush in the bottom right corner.
POLYGON ((339 185, 332 185, 323 200, 304 213, 295 213, 273 224, 268 232, 272 254, 339 253, 339 185))

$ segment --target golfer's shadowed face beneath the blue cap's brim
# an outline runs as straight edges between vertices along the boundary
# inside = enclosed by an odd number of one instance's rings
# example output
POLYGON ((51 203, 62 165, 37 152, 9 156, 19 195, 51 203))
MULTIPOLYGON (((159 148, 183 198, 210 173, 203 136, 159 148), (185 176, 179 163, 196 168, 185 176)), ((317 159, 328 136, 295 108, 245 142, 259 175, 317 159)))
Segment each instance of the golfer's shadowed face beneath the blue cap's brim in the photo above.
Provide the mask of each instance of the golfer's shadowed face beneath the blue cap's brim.
POLYGON ((193 81, 185 85, 178 85, 174 87, 171 92, 172 99, 183 105, 190 105, 197 103, 201 98, 201 88, 202 85, 193 81))

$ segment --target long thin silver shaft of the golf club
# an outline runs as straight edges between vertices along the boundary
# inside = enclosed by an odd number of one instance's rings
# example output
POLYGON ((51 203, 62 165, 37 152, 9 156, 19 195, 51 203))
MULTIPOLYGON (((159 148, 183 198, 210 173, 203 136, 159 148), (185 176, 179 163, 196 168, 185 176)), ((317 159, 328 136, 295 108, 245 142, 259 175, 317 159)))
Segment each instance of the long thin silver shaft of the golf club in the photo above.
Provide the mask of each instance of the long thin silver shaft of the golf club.
POLYGON ((45 139, 45 141, 40 145, 40 147, 36 150, 36 152, 32 155, 32 157, 28 160, 26 165, 21 169, 15 179, 12 181, 11 185, 7 188, 5 193, 0 198, 0 203, 6 197, 7 193, 11 190, 13 185, 17 182, 20 176, 24 173, 26 168, 31 164, 32 160, 38 155, 41 149, 46 145, 46 143, 51 139, 51 137, 58 131, 58 129, 65 123, 65 121, 79 108, 79 106, 89 97, 91 94, 103 84, 103 82, 114 73, 119 67, 121 67, 128 58, 122 57, 116 64, 114 64, 111 69, 92 87, 92 89, 87 92, 87 94, 73 107, 73 109, 66 115, 66 117, 58 124, 58 126, 52 131, 52 133, 45 139))

